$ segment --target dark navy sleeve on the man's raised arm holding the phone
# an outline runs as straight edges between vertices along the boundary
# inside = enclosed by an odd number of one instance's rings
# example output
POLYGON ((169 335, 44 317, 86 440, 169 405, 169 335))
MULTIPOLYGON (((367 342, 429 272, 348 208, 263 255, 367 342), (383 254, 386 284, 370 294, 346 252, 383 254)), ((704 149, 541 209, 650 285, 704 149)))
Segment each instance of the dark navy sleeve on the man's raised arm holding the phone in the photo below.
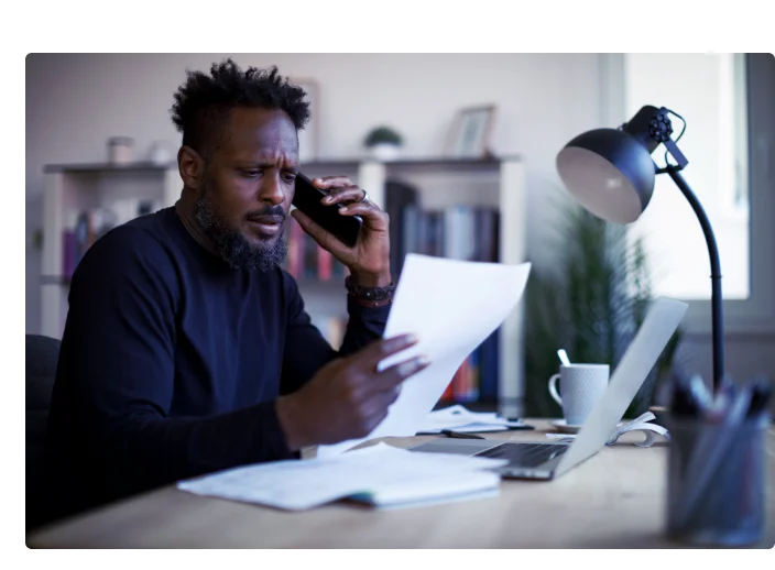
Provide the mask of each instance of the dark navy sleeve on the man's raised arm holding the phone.
MULTIPOLYGON (((342 295, 347 295, 342 285, 342 295)), ((298 390, 327 362, 351 354, 381 339, 390 305, 367 308, 347 297, 348 322, 339 350, 335 350, 314 326, 295 279, 285 274, 285 298, 288 307, 285 350, 283 355, 282 393, 298 390)))

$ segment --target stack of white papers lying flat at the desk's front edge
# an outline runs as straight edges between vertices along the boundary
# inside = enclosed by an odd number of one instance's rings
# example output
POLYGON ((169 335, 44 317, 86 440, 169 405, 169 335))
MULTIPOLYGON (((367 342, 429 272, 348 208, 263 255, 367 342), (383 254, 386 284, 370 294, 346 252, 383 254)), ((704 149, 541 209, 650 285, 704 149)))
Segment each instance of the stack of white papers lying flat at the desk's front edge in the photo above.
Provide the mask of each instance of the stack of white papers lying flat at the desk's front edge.
POLYGON ((274 461, 178 482, 198 495, 288 511, 340 498, 378 507, 479 498, 498 494, 505 460, 418 453, 376 443, 329 458, 274 461))

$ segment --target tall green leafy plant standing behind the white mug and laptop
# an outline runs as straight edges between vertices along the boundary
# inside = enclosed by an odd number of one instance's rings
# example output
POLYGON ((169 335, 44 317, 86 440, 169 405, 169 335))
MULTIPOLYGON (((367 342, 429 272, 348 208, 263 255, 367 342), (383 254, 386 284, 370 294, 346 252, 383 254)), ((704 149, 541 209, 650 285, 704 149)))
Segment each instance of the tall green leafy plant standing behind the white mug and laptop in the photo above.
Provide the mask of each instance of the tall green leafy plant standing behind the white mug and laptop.
MULTIPOLYGON (((525 405, 532 417, 561 417, 547 390, 558 371, 557 350, 576 362, 605 362, 613 372, 653 300, 642 241, 627 240, 626 227, 608 223, 577 205, 560 206, 547 235, 556 254, 534 263, 525 291, 525 405)), ((624 417, 655 404, 656 392, 676 372, 683 330, 678 329, 635 395, 624 417)))

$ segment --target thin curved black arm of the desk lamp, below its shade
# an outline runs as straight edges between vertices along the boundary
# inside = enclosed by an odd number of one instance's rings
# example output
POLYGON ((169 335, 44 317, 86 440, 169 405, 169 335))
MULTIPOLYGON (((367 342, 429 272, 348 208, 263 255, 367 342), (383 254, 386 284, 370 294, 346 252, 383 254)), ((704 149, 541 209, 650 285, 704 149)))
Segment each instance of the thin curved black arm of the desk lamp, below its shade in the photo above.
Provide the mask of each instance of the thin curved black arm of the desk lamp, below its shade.
POLYGON ((695 210, 697 219, 702 227, 705 241, 708 244, 708 254, 710 255, 710 279, 711 279, 711 310, 712 310, 712 348, 713 348, 713 392, 717 392, 721 386, 721 381, 724 374, 724 358, 723 358, 723 325, 722 325, 722 308, 723 298, 721 296, 721 264, 719 262, 719 248, 716 244, 716 235, 710 227, 710 220, 700 205, 697 196, 691 191, 691 188, 680 175, 680 167, 668 166, 665 168, 673 178, 673 182, 678 186, 678 189, 684 194, 689 201, 691 209, 695 210))

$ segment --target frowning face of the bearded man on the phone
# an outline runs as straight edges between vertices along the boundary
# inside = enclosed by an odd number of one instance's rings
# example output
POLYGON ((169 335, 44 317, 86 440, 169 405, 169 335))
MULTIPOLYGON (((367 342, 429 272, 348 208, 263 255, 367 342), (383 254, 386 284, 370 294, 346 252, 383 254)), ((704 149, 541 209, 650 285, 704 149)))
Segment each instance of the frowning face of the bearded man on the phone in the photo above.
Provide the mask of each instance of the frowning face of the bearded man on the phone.
POLYGON ((207 163, 195 218, 233 267, 283 262, 283 222, 298 169, 296 129, 284 111, 236 108, 207 163))

